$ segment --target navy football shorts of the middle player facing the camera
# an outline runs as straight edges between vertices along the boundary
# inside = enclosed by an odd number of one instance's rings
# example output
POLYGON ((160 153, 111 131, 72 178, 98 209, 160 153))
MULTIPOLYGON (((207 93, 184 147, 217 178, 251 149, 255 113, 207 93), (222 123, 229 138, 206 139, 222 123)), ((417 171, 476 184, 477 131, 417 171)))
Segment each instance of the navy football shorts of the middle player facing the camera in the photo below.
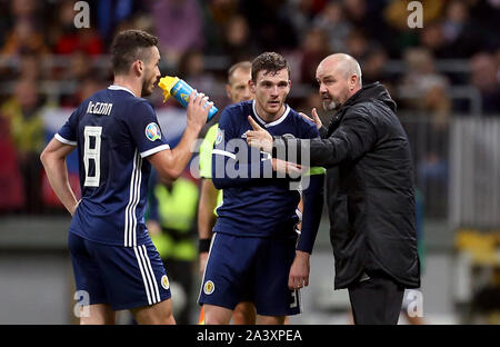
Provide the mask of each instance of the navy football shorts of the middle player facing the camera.
POLYGON ((300 314, 300 291, 288 288, 296 239, 214 232, 198 303, 229 309, 252 301, 261 316, 300 314))

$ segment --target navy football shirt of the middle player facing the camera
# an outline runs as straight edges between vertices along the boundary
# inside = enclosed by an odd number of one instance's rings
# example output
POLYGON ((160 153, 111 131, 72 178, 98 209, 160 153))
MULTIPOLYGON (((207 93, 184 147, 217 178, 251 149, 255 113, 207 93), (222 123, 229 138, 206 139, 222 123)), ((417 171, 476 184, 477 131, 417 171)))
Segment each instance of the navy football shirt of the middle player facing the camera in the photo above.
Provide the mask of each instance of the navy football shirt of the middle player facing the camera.
MULTIPOLYGON (((252 130, 251 116, 272 136, 300 139, 319 138, 314 123, 286 105, 283 115, 272 121, 262 120, 256 101, 242 101, 227 107, 220 118, 212 151, 212 181, 223 189, 222 205, 217 208, 213 231, 248 237, 287 237, 290 226, 299 221, 297 206, 300 192, 291 189, 290 178, 272 172, 271 156, 250 148, 246 132, 252 130)), ((311 176, 304 189, 302 236, 298 249, 311 252, 321 218, 323 172, 311 176), (306 215, 304 215, 306 217, 306 215)))

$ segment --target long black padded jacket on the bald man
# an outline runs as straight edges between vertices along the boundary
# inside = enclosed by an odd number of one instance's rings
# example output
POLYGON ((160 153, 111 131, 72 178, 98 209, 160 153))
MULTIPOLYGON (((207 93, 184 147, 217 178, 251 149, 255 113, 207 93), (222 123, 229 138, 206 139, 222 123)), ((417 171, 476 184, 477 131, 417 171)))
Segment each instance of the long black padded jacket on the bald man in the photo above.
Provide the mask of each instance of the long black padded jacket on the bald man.
POLYGON ((296 150, 303 163, 306 146, 310 165, 327 168, 336 289, 349 287, 363 270, 420 287, 413 165, 396 102, 382 85, 367 85, 310 142, 276 137, 273 155, 296 150))

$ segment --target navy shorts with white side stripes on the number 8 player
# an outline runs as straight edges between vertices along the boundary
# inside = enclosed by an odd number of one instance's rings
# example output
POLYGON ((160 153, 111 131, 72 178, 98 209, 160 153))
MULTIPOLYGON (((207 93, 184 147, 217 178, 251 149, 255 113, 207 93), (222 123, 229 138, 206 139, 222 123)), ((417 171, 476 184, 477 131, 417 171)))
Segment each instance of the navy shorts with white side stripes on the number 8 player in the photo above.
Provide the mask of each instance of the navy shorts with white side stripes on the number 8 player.
POLYGON ((77 290, 88 293, 89 305, 109 304, 114 310, 122 310, 170 298, 169 279, 151 240, 122 247, 69 232, 68 244, 77 290))

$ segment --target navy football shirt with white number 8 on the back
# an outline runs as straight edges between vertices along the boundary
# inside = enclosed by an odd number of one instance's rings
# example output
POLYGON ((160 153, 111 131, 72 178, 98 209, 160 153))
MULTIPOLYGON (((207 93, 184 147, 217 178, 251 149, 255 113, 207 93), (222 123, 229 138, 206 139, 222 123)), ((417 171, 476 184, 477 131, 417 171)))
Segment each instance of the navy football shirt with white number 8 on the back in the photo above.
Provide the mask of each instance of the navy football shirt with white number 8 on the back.
POLYGON ((170 148, 151 105, 110 86, 84 100, 56 139, 78 147, 82 198, 70 232, 107 245, 143 245, 151 172, 144 158, 170 148))

